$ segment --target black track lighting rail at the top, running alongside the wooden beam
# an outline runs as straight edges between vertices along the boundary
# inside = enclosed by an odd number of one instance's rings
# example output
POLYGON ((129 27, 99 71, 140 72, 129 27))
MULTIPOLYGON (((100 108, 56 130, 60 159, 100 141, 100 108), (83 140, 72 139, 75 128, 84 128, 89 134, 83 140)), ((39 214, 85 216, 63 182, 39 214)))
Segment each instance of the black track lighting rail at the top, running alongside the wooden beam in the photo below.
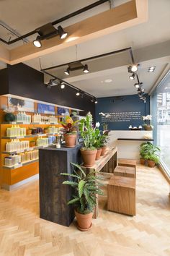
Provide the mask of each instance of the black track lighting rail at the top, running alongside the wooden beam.
MULTIPOLYGON (((86 11, 88 11, 89 9, 93 9, 94 7, 98 7, 99 5, 104 4, 104 3, 107 2, 107 1, 109 1, 109 0, 99 0, 99 1, 96 1, 96 2, 94 2, 93 4, 89 4, 88 6, 83 7, 83 8, 81 8, 81 9, 77 10, 76 12, 72 12, 71 14, 68 14, 68 15, 66 15, 66 16, 64 16, 64 17, 61 17, 61 18, 58 19, 58 20, 55 20, 55 21, 51 22, 51 24, 52 24, 52 25, 56 25, 56 24, 61 23, 61 22, 65 21, 65 20, 71 19, 72 17, 75 17, 75 16, 77 16, 77 15, 83 13, 83 12, 86 12, 86 11)), ((32 30, 32 31, 30 31, 29 33, 24 34, 24 35, 22 35, 22 36, 19 36, 18 38, 14 39, 14 40, 6 41, 6 40, 4 40, 3 38, 0 38, 0 41, 1 41, 2 43, 6 43, 7 45, 11 45, 12 43, 16 43, 16 42, 18 42, 19 40, 23 40, 24 38, 27 38, 27 37, 29 37, 30 35, 34 35, 34 34, 36 34, 36 33, 37 33, 37 29, 32 30)))

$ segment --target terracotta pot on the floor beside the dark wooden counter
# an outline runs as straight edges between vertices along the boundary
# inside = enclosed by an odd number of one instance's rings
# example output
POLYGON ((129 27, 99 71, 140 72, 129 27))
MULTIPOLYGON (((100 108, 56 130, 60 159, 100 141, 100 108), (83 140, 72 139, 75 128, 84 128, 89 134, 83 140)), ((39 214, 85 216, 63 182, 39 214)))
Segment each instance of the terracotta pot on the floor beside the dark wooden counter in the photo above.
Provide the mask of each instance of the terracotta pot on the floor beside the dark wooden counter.
POLYGON ((91 229, 93 213, 81 214, 77 213, 75 210, 75 214, 78 223, 78 229, 80 229, 81 231, 88 231, 89 229, 91 229))

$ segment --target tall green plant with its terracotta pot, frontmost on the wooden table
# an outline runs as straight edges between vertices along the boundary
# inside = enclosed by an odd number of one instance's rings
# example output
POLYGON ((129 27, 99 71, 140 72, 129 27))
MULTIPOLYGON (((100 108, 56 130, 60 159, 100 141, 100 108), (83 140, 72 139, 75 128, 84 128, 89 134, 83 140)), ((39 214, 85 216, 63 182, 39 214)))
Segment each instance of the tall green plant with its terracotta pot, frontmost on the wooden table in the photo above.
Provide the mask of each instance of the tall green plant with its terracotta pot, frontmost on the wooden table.
POLYGON ((81 137, 84 139, 84 147, 81 148, 81 155, 84 161, 84 166, 87 167, 94 165, 97 155, 97 148, 94 147, 96 136, 92 121, 93 118, 89 112, 85 119, 81 119, 79 124, 79 131, 81 137))

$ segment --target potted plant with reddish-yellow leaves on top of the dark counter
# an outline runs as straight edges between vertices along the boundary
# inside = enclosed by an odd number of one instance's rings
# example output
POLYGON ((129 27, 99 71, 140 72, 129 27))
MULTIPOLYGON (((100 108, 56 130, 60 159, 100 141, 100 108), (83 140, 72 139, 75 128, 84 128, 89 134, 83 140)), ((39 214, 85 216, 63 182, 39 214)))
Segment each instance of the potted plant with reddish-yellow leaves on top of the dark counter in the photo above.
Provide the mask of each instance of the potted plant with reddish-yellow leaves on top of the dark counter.
POLYGON ((63 127, 61 132, 63 132, 64 140, 66 141, 66 147, 68 148, 73 148, 76 146, 76 124, 78 121, 79 120, 73 121, 70 116, 65 116, 64 120, 60 122, 63 127))

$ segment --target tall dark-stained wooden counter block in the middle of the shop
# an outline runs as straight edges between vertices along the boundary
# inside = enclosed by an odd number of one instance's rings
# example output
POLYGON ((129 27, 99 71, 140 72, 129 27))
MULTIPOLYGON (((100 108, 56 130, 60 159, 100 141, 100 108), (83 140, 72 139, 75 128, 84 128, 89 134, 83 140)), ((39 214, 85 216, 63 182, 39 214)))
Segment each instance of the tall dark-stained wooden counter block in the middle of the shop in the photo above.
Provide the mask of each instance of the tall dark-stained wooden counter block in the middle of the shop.
MULTIPOLYGON (((74 218, 72 188, 63 181, 68 176, 61 173, 73 173, 71 162, 81 163, 80 146, 76 148, 42 148, 40 158, 40 218, 69 226, 74 218)), ((71 180, 71 179, 70 179, 71 180)))

